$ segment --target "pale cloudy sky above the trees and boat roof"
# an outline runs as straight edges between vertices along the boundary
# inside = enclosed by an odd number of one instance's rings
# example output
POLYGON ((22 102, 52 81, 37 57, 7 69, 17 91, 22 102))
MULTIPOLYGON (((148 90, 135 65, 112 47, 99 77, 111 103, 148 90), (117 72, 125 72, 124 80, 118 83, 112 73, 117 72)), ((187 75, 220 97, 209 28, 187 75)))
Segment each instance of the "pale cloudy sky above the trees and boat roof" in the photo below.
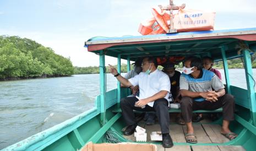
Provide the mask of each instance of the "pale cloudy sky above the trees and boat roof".
MULTIPOLYGON (((152 17, 151 8, 159 1, 0 0, 0 34, 29 38, 70 57, 74 66, 99 66, 99 56, 89 53, 84 42, 95 36, 140 35, 141 21, 152 17)), ((253 0, 174 0, 186 8, 215 11, 215 30, 256 27, 256 1, 253 0)), ((106 57, 106 63, 117 59, 106 57)), ((126 63, 126 61, 123 61, 126 63)))

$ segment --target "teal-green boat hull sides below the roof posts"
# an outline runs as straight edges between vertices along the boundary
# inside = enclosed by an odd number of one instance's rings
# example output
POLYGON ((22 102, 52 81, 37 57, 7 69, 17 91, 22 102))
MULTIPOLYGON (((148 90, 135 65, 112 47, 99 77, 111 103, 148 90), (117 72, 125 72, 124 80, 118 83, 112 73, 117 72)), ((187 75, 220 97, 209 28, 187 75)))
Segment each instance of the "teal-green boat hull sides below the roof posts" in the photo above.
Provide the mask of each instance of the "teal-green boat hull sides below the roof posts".
MULTIPOLYGON (((231 130, 238 133, 235 140, 225 143, 175 143, 177 146, 242 146, 246 150, 256 148, 256 127, 252 125, 250 119, 250 111, 247 107, 248 102, 247 90, 231 86, 232 95, 236 99, 236 115, 235 121, 230 125, 231 130)), ((37 133, 24 141, 18 142, 3 150, 77 150, 81 149, 86 143, 102 143, 105 132, 108 130, 116 131, 116 137, 122 142, 129 142, 122 137, 122 128, 125 125, 121 113, 113 113, 118 107, 117 90, 108 91, 106 93, 106 124, 101 126, 101 115, 99 110, 100 96, 96 97, 95 108, 78 115, 72 119, 56 125, 48 130, 37 133)), ((122 97, 127 96, 128 90, 122 89, 122 97)), ((217 120, 214 124, 221 125, 221 120, 217 120)), ((152 143, 152 142, 150 142, 152 143)), ((155 144, 160 144, 156 142, 155 144)))

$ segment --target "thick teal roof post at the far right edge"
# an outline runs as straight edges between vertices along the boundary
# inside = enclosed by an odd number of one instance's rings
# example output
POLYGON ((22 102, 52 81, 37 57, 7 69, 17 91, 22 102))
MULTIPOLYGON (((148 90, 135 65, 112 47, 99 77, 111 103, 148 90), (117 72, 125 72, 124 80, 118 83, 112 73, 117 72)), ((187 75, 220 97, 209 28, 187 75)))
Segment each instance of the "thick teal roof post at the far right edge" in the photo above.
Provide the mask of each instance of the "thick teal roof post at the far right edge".
POLYGON ((246 82, 247 82, 247 92, 248 92, 248 101, 250 104, 250 111, 252 112, 251 117, 253 119, 253 124, 256 125, 256 100, 255 100, 255 91, 254 91, 254 80, 252 72, 252 62, 250 61, 250 52, 249 50, 243 50, 243 60, 244 60, 244 70, 246 71, 246 82))

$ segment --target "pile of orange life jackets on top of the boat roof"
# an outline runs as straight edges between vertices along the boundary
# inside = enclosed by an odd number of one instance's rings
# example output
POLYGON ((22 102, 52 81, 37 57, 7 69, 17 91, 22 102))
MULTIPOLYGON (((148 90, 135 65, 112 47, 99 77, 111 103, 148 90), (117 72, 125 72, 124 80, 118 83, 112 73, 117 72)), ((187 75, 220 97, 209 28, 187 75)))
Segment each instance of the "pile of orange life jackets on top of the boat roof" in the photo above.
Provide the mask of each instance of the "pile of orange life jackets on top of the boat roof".
MULTIPOLYGON (((154 18, 141 22, 139 33, 161 34, 170 29, 170 14, 160 8, 152 8, 154 18)), ((193 9, 179 9, 173 17, 173 28, 177 32, 214 30, 214 12, 205 12, 193 9)))

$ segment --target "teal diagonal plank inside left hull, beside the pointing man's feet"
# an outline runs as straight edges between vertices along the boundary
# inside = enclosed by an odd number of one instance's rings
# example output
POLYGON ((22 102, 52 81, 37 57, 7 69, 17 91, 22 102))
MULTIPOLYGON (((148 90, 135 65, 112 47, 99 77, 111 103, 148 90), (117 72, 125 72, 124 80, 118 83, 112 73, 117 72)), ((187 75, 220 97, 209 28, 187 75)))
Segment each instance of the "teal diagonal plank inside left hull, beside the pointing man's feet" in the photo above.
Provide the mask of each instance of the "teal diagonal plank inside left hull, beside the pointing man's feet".
POLYGON ((97 143, 97 141, 100 140, 100 138, 104 135, 104 133, 110 129, 110 127, 122 116, 121 113, 117 113, 113 118, 111 118, 99 131, 95 133, 94 136, 92 136, 88 142, 97 143))

